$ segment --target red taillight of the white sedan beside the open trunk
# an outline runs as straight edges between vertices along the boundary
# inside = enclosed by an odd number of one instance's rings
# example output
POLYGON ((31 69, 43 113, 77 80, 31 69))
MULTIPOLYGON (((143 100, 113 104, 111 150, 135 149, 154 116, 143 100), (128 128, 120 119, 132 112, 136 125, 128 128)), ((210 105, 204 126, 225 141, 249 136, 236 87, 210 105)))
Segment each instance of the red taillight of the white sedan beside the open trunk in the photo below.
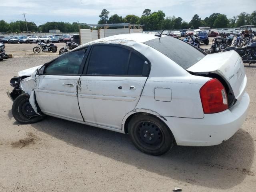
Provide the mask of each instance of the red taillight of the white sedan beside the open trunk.
POLYGON ((218 113, 228 109, 226 90, 218 79, 211 79, 200 88, 204 113, 218 113))

